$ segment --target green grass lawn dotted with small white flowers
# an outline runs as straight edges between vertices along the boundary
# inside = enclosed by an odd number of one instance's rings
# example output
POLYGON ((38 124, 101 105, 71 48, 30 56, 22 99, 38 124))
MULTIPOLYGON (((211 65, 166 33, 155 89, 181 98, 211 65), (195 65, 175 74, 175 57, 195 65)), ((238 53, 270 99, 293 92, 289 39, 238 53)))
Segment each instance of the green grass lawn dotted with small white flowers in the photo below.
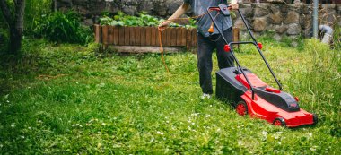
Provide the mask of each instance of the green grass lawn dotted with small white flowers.
MULTIPOLYGON (((302 50, 263 40, 284 90, 320 118, 296 129, 200 99, 195 54, 166 55, 167 73, 158 54, 95 56, 95 45, 24 44, 21 58, 1 58, 0 154, 341 153, 340 54, 316 40, 302 50)), ((257 52, 242 49, 240 63, 274 83, 257 52)))

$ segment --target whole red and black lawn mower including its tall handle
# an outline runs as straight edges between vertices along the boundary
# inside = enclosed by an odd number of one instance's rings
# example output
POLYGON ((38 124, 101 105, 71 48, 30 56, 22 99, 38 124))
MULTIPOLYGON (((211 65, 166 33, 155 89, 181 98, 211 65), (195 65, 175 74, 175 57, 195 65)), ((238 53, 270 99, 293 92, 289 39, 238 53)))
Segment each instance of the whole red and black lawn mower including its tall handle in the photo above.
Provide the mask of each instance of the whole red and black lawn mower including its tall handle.
MULTIPOLYGON (((219 6, 207 8, 207 13, 212 19, 214 26, 218 28, 211 13, 213 11, 229 16, 229 6, 219 4, 219 6)), ((237 11, 240 13, 240 10, 237 11)), ((216 73, 216 97, 218 99, 229 100, 240 116, 258 117, 267 120, 267 122, 273 125, 298 127, 301 125, 317 124, 318 117, 315 114, 310 114, 300 108, 298 98, 293 98, 292 95, 282 91, 281 83, 275 77, 275 73, 261 51, 262 44, 258 43, 253 37, 251 30, 249 30, 249 25, 245 22, 245 18, 241 13, 240 17, 253 41, 228 43, 222 35, 226 43, 224 50, 232 53, 237 67, 223 68, 216 73), (258 49, 258 53, 262 56, 279 89, 269 86, 266 82, 261 81, 256 74, 249 71, 249 69, 240 66, 240 62, 233 53, 232 46, 240 44, 253 44, 258 49)), ((223 34, 222 30, 217 30, 220 34, 223 34)))

